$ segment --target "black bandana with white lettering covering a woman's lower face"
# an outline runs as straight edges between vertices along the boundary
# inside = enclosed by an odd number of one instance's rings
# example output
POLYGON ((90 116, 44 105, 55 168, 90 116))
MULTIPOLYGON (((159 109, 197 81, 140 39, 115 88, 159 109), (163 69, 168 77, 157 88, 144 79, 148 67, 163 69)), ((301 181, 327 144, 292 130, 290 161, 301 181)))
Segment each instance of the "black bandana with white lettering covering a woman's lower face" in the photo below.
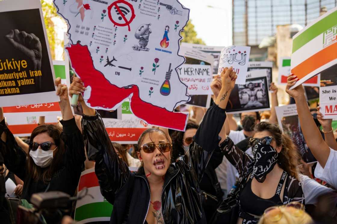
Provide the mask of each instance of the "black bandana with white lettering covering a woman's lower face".
POLYGON ((264 145, 261 142, 253 146, 252 152, 255 160, 252 176, 259 183, 262 183, 265 181, 266 175, 272 171, 277 163, 278 153, 271 145, 264 145))

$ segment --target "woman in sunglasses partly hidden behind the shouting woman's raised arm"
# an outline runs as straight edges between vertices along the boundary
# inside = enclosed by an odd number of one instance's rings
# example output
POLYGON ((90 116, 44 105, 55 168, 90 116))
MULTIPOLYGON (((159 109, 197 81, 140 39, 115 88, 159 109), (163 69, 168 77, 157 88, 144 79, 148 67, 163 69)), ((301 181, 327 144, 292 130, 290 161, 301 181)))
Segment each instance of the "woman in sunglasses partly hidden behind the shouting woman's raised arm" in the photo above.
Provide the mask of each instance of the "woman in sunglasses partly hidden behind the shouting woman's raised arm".
MULTIPOLYGON (((178 157, 188 153, 189 146, 193 142, 193 136, 196 134, 198 127, 199 125, 195 123, 187 123, 185 132, 174 131, 172 133, 172 162, 175 162, 178 157)), ((223 154, 217 147, 213 151, 203 178, 199 183, 207 223, 212 218, 218 204, 222 201, 223 192, 221 191, 220 183, 215 173, 215 169, 221 164, 222 159, 223 154)))

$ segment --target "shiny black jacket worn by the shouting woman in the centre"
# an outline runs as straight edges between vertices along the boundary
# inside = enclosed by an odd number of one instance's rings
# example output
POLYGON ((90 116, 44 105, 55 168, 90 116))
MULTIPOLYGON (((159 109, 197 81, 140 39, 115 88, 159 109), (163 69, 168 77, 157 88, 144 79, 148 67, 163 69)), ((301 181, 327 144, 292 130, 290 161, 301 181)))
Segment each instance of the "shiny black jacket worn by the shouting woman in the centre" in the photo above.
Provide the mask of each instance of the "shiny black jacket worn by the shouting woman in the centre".
MULTIPOLYGON (((168 168, 161 196, 164 224, 206 223, 199 183, 212 150, 218 147, 224 121, 225 110, 212 105, 196 132, 189 156, 179 157, 168 168)), ((101 193, 113 204, 110 223, 143 224, 151 198, 144 168, 129 171, 113 150, 99 115, 83 116, 82 125, 88 158, 96 161, 101 193)))

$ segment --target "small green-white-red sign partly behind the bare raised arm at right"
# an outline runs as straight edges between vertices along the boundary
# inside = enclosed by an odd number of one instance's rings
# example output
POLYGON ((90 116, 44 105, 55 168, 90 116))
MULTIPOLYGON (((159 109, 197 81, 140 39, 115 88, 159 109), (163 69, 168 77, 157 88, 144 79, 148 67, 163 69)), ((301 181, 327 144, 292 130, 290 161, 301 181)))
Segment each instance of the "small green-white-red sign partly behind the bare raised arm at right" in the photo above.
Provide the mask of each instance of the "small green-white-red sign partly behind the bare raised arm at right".
MULTIPOLYGON (((279 85, 287 85, 287 78, 290 74, 290 57, 280 58, 279 66, 278 66, 278 84, 279 85)), ((319 86, 319 74, 309 78, 307 81, 303 83, 303 86, 319 86)))

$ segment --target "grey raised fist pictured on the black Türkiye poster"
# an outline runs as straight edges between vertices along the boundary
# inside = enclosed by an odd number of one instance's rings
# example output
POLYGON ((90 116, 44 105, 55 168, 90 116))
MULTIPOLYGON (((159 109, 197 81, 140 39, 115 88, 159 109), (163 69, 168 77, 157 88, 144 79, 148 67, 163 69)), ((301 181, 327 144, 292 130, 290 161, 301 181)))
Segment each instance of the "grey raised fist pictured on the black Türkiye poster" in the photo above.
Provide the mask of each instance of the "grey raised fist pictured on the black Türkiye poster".
POLYGON ((27 55, 34 63, 34 71, 41 70, 42 46, 39 38, 33 33, 10 30, 6 35, 8 41, 19 51, 27 55))

